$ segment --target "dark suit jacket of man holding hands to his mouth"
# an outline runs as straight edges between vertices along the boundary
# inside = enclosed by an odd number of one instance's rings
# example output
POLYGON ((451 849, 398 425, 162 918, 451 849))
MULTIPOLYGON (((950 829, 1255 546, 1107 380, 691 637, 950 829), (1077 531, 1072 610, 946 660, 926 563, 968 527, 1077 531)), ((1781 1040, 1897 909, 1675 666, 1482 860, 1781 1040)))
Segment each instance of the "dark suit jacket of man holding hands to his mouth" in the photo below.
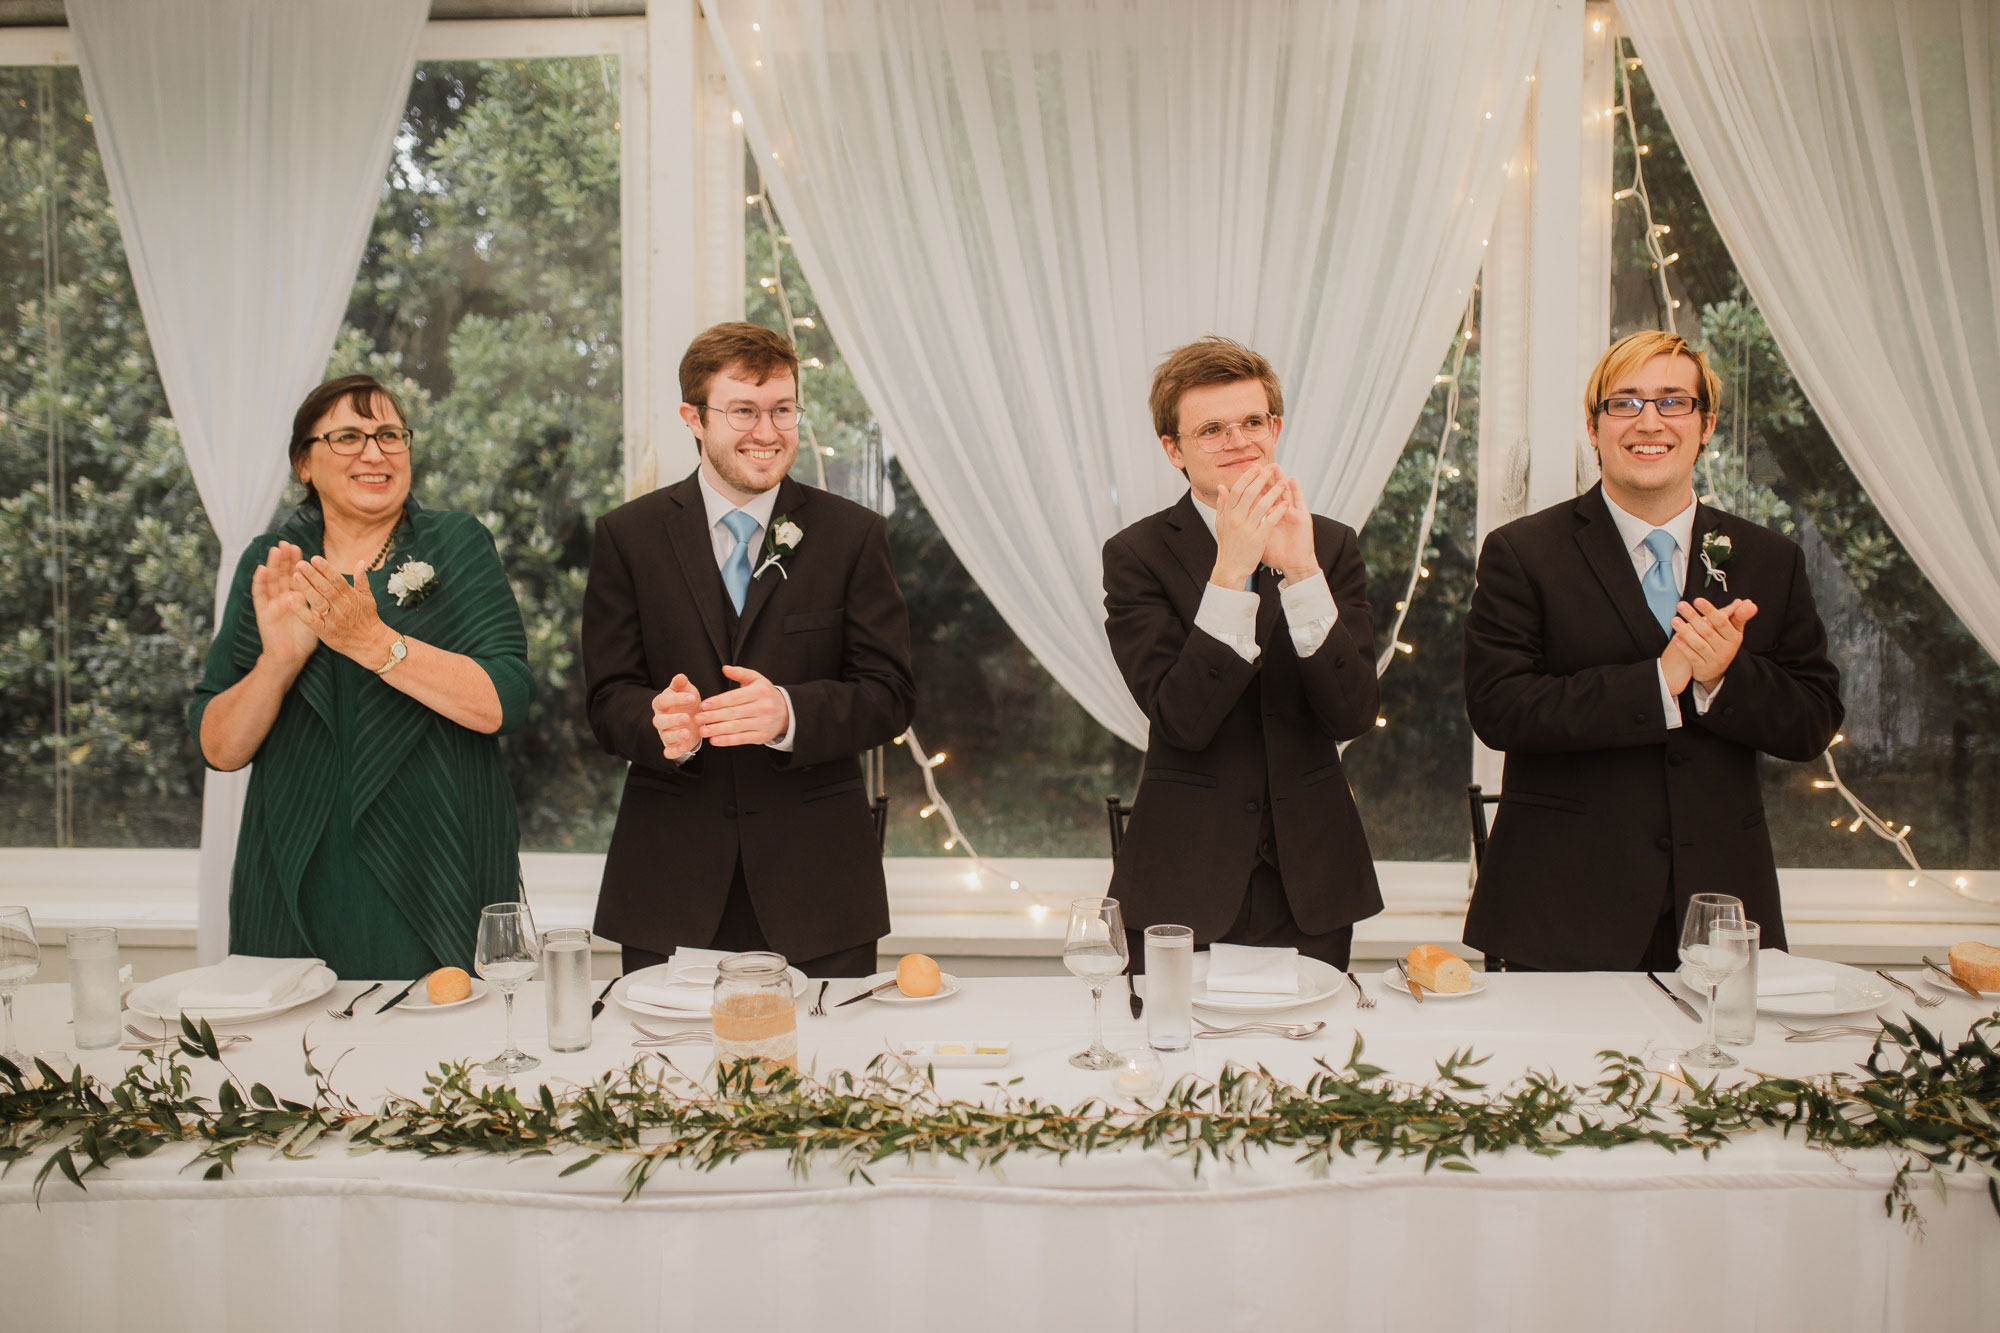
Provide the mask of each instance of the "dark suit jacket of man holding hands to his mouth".
POLYGON ((1278 576, 1260 568, 1254 662, 1194 628, 1216 538, 1192 494, 1104 542, 1104 632, 1152 723, 1112 869, 1130 929, 1184 925, 1196 945, 1228 931, 1266 811, 1300 929, 1320 935, 1382 911, 1338 749, 1374 727, 1380 703, 1368 570, 1354 528, 1314 518, 1312 542, 1340 620, 1300 660, 1278 576))

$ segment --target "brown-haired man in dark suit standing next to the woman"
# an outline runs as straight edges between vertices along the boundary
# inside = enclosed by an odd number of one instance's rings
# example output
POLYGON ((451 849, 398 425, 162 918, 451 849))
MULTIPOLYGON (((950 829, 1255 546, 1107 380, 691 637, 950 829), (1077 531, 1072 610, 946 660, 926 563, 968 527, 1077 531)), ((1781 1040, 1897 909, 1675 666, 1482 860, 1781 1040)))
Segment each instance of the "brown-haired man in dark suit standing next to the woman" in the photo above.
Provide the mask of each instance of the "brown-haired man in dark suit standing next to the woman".
POLYGON ((598 520, 590 729, 630 761, 596 931, 624 967, 774 949, 864 977, 888 933, 860 755, 916 705, 882 516, 786 474, 798 356, 718 324, 680 362, 692 476, 598 520))

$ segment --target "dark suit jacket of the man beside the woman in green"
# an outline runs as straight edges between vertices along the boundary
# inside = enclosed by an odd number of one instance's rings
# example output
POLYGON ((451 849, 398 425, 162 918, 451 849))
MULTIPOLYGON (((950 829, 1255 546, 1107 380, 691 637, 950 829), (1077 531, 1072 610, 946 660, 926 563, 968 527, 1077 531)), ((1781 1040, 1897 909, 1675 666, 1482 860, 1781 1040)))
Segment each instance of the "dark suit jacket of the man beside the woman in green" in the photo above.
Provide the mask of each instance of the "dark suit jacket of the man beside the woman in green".
MULTIPOLYGON (((860 753, 916 711, 910 618, 882 516, 780 482, 772 526, 804 536, 766 568, 738 618, 716 568, 696 478, 598 520, 584 590, 590 729, 632 763, 604 859, 596 931, 670 953, 704 947, 722 921, 736 859, 770 947, 814 959, 888 933, 888 895, 860 753), (652 699, 686 673, 702 699, 750 666, 792 695, 790 755, 702 745, 674 767, 652 699)), ((762 562, 752 560, 752 564, 762 562)))

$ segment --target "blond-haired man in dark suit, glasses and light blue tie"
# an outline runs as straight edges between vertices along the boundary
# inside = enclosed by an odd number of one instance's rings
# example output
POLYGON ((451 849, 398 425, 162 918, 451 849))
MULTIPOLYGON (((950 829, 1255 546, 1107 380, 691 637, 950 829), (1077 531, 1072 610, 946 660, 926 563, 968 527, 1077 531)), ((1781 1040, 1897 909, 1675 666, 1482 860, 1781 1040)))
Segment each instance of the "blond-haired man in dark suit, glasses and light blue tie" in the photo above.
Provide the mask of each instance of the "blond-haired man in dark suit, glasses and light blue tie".
POLYGON ((1758 753, 1816 759, 1840 673, 1800 548, 1694 500, 1720 384, 1666 332, 1614 344, 1584 410, 1602 484, 1486 538, 1466 711, 1506 779, 1466 943, 1510 967, 1678 967, 1688 897, 1784 947, 1758 753))

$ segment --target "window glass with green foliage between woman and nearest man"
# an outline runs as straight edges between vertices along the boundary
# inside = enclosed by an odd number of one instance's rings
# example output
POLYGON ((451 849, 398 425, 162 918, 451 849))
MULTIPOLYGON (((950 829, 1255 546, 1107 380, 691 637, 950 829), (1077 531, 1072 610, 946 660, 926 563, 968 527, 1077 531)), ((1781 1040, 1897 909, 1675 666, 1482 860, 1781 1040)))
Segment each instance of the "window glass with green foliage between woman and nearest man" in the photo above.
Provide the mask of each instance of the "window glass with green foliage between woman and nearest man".
POLYGON ((416 70, 328 374, 392 384, 416 496, 494 534, 536 703, 502 737, 524 851, 604 851, 624 765, 584 721, 590 534, 624 500, 618 62, 416 70))

